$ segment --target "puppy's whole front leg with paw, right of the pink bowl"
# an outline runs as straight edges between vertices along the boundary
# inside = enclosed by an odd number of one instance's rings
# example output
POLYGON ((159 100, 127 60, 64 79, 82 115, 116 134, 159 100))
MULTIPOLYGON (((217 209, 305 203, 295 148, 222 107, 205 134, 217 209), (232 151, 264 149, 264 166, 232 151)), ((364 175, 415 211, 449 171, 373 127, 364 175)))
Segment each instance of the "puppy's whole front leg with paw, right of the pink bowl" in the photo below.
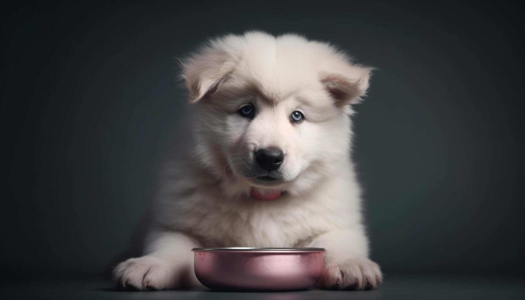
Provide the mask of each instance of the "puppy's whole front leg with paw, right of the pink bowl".
POLYGON ((327 289, 373 289, 381 284, 379 265, 368 258, 368 242, 362 228, 331 231, 317 236, 309 247, 325 248, 323 277, 327 289))

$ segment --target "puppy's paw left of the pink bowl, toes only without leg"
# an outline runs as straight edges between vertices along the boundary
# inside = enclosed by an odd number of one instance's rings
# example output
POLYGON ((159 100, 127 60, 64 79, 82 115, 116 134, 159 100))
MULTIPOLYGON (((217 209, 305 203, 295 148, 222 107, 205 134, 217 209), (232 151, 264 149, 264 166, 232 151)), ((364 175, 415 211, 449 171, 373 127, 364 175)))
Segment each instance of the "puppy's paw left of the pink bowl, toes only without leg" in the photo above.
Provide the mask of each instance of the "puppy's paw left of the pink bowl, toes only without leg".
POLYGON ((154 291, 180 286, 180 274, 170 263, 153 256, 130 258, 113 271, 113 283, 119 289, 154 291))

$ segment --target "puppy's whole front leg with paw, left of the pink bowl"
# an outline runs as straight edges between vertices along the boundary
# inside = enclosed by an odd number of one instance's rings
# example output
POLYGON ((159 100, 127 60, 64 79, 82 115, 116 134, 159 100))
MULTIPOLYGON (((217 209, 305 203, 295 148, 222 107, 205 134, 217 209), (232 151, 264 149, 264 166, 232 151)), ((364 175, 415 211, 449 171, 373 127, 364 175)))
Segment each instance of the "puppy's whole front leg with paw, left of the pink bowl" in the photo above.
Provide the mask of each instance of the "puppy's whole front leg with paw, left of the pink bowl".
POLYGON ((146 255, 130 258, 117 265, 113 282, 119 288, 174 289, 199 285, 193 271, 193 252, 199 247, 190 236, 160 232, 150 236, 146 255))

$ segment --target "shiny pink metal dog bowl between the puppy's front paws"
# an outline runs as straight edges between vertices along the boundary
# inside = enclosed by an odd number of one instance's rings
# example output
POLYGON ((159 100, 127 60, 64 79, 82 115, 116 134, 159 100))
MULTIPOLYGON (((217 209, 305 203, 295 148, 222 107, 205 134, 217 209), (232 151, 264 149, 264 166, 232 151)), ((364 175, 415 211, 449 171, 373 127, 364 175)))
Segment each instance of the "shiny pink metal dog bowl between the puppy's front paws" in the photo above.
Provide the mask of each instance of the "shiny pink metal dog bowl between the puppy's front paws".
POLYGON ((195 275, 211 289, 297 291, 323 274, 323 248, 194 248, 195 275))

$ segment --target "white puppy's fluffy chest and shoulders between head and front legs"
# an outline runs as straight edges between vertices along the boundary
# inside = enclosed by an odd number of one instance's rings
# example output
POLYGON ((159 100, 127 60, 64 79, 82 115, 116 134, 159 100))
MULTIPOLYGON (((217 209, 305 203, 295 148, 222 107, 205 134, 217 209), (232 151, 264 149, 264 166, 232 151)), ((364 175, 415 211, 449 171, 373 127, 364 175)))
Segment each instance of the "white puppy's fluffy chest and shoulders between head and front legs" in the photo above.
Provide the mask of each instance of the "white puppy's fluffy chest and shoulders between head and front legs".
MULTIPOLYGON (((272 201, 228 198, 202 173, 165 174, 155 221, 195 237, 205 247, 300 247, 319 234, 360 223, 360 197, 350 168, 304 195, 272 201)), ((195 169, 194 169, 195 170, 195 169)))

